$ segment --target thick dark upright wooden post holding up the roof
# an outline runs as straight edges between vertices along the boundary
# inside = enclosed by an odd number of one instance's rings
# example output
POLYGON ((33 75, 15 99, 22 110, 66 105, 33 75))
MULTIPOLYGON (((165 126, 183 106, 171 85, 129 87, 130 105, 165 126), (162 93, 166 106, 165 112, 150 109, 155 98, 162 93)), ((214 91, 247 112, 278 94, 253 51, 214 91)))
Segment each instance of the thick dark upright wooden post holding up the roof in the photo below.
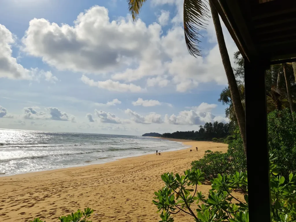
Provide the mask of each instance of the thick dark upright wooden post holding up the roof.
POLYGON ((252 222, 271 221, 265 87, 267 68, 262 63, 244 59, 249 220, 252 222))

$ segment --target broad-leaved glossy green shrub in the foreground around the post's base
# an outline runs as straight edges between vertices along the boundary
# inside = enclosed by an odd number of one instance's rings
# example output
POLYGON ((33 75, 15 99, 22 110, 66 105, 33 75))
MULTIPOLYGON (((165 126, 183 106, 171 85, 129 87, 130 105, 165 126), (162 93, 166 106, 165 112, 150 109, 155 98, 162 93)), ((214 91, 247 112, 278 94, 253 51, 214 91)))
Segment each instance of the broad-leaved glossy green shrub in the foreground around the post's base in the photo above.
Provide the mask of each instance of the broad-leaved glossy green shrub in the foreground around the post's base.
MULTIPOLYGON (((296 175, 292 173, 286 180, 283 176, 276 176, 277 166, 271 160, 271 217, 273 222, 287 222, 296 220, 296 175)), ((260 175, 258 175, 260 176, 260 175)), ((172 214, 180 211, 192 216, 198 222, 249 222, 249 206, 247 190, 247 172, 235 172, 234 174, 221 175, 211 180, 212 189, 205 197, 197 191, 198 185, 205 179, 205 173, 197 170, 186 170, 183 176, 177 173, 165 173, 161 175, 165 186, 155 192, 155 200, 152 202, 160 212, 161 221, 173 222, 172 214), (244 191, 244 200, 239 201, 232 193, 244 191), (236 200, 234 204, 231 201, 236 200), (190 206, 196 202, 198 208, 190 206)), ((258 199, 258 207, 260 199, 258 199)), ((161 222, 160 221, 160 222, 161 222)))

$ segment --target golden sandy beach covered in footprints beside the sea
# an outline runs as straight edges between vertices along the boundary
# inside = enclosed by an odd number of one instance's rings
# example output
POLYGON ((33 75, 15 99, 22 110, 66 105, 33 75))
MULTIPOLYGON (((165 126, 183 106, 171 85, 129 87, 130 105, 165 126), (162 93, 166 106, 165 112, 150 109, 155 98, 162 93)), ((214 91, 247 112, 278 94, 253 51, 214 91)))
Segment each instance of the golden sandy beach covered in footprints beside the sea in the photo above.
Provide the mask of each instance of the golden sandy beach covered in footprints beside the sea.
MULTIPOLYGON (((0 177, 1 221, 25 222, 40 216, 46 222, 58 221, 59 216, 85 207, 94 209, 93 222, 158 221, 152 198, 163 186, 160 175, 171 171, 183 173, 205 150, 227 150, 227 144, 222 143, 173 140, 192 146, 193 152, 187 148, 160 156, 143 155, 104 164, 0 177)), ((205 195, 209 189, 210 185, 199 186, 205 195)), ((175 221, 193 219, 179 213, 175 221)))

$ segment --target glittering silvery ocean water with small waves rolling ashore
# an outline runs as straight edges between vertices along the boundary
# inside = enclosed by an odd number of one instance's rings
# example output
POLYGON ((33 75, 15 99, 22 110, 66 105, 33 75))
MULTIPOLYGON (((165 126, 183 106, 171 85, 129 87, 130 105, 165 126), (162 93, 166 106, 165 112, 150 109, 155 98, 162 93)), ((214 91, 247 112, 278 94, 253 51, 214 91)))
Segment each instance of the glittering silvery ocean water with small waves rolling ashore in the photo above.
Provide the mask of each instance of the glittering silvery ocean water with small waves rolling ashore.
POLYGON ((0 176, 106 163, 183 149, 180 142, 142 136, 0 129, 0 176))

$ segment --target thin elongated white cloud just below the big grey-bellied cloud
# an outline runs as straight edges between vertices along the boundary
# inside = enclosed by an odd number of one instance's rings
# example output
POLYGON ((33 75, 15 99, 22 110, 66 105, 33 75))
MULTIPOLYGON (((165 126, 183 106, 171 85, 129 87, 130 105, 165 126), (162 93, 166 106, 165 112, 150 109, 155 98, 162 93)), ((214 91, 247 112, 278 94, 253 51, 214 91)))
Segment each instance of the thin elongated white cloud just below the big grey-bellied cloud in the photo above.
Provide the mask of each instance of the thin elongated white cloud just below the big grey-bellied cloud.
POLYGON ((118 91, 118 92, 140 92, 142 91, 140 86, 136 86, 132 83, 130 84, 125 84, 125 83, 120 83, 118 81, 112 81, 111 79, 108 79, 106 81, 94 81, 85 75, 81 77, 81 81, 89 86, 96 86, 101 89, 107 89, 109 91, 118 91))

